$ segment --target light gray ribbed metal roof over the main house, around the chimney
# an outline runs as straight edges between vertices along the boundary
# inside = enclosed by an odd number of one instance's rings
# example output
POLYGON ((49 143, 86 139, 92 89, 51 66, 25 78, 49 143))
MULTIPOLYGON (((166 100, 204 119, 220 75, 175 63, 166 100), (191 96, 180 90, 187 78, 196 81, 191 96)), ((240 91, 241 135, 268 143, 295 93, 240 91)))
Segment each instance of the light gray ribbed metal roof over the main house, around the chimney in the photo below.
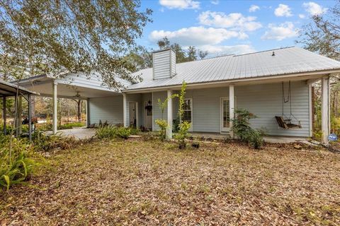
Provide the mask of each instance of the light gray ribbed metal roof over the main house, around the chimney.
POLYGON ((183 81, 188 84, 209 83, 327 70, 340 70, 340 61, 298 47, 288 47, 176 64, 176 76, 159 80, 152 79, 152 68, 143 69, 133 73, 140 75, 143 81, 129 85, 127 90, 181 85, 183 81), (273 52, 275 56, 272 56, 273 52))

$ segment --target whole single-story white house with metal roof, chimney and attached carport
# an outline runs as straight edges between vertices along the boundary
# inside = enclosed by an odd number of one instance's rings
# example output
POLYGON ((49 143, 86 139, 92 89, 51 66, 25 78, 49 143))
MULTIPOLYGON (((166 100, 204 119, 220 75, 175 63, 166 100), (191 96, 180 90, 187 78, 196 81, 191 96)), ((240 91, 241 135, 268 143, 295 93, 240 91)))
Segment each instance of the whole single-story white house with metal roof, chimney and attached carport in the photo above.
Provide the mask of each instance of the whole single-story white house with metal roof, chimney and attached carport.
MULTIPOLYGON (((178 93, 186 81, 184 117, 191 121, 193 132, 232 135, 229 119, 234 117, 235 109, 244 108, 258 117, 251 120, 251 126, 265 127, 269 135, 310 137, 314 117, 312 83, 321 80, 322 132, 323 141, 327 142, 329 76, 340 72, 339 61, 298 47, 181 64, 176 64, 172 49, 154 52, 152 57, 152 68, 133 73, 140 75, 142 81, 127 84, 121 92, 104 87, 99 78, 86 79, 81 74, 68 74, 62 79, 33 77, 21 85, 42 95, 52 95, 55 106, 57 97, 80 94, 79 97, 88 101, 88 124, 98 124, 101 120, 157 131, 154 121, 162 118, 157 101, 178 93), (57 88, 57 84, 62 86, 57 88)), ((172 137, 178 107, 178 100, 170 100, 163 115, 170 125, 168 138, 172 137)))

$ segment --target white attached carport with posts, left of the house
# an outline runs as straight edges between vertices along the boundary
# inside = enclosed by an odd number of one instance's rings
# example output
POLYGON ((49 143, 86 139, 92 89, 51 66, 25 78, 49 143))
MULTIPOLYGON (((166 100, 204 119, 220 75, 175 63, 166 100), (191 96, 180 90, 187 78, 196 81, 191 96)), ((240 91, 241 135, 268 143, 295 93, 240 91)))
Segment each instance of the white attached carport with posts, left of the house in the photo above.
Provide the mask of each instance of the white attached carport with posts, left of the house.
POLYGON ((58 78, 54 76, 34 76, 21 80, 20 85, 42 97, 52 97, 52 133, 57 133, 57 98, 86 100, 86 124, 90 126, 89 99, 121 95, 116 90, 103 85, 100 76, 88 78, 84 73, 67 73, 58 78))

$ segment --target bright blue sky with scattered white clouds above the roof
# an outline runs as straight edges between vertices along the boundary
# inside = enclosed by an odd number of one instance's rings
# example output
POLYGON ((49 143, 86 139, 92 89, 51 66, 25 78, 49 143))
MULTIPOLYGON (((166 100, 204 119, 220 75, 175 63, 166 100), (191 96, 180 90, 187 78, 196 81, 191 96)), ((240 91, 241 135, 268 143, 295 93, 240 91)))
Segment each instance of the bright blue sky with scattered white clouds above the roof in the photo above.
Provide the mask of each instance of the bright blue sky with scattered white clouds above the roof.
POLYGON ((142 0, 152 8, 142 38, 147 48, 157 49, 166 36, 183 47, 193 45, 210 56, 297 45, 298 30, 315 14, 327 13, 336 1, 223 1, 142 0))

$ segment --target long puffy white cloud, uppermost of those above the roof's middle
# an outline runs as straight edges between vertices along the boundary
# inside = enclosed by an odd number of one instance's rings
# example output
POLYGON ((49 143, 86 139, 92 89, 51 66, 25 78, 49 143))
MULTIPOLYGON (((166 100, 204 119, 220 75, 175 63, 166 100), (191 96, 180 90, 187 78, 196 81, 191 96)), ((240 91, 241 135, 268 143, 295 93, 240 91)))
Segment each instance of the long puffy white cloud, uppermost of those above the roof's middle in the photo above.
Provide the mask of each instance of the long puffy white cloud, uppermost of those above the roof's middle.
POLYGON ((198 20, 202 25, 211 25, 217 28, 230 28, 232 30, 252 31, 262 27, 254 16, 243 16, 242 13, 225 14, 222 12, 205 11, 200 13, 198 20))

